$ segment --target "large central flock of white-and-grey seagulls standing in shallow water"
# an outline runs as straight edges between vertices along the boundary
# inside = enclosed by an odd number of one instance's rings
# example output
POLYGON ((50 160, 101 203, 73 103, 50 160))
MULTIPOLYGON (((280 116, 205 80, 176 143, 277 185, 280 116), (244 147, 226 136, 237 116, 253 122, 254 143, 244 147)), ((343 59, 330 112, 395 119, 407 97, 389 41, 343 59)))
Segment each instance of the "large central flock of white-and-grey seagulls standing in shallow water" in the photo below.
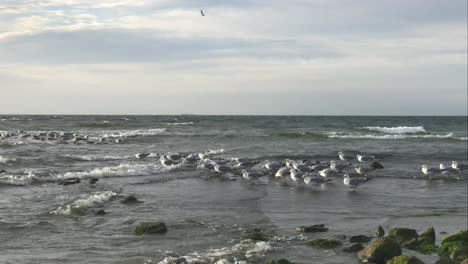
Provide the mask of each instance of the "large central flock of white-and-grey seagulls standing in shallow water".
MULTIPOLYGON (((149 154, 139 153, 137 158, 145 158, 149 154)), ((211 157, 207 153, 187 154, 168 153, 160 156, 160 162, 164 166, 176 166, 177 164, 198 162, 197 170, 213 172, 217 174, 240 174, 245 180, 258 180, 265 176, 274 176, 277 181, 287 183, 288 179, 300 185, 319 187, 332 181, 332 178, 342 177, 343 183, 354 191, 360 185, 372 178, 368 173, 375 169, 383 169, 383 165, 375 160, 374 156, 350 155, 338 153, 340 161, 315 161, 292 160, 284 162, 265 160, 261 166, 256 166, 260 161, 232 158, 225 159, 211 157), (357 161, 357 164, 353 162, 357 161)))

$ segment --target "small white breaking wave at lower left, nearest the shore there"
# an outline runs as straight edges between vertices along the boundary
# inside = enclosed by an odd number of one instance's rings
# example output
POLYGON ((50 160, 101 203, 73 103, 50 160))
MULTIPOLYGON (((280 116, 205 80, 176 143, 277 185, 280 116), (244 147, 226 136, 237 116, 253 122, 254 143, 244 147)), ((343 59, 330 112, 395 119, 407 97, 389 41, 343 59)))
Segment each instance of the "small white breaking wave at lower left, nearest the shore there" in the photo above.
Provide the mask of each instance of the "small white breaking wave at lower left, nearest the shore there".
POLYGON ((65 207, 59 207, 55 210, 50 211, 50 214, 54 215, 71 215, 71 214, 83 214, 88 208, 101 205, 105 202, 110 201, 117 193, 113 191, 97 192, 72 202, 65 207))

